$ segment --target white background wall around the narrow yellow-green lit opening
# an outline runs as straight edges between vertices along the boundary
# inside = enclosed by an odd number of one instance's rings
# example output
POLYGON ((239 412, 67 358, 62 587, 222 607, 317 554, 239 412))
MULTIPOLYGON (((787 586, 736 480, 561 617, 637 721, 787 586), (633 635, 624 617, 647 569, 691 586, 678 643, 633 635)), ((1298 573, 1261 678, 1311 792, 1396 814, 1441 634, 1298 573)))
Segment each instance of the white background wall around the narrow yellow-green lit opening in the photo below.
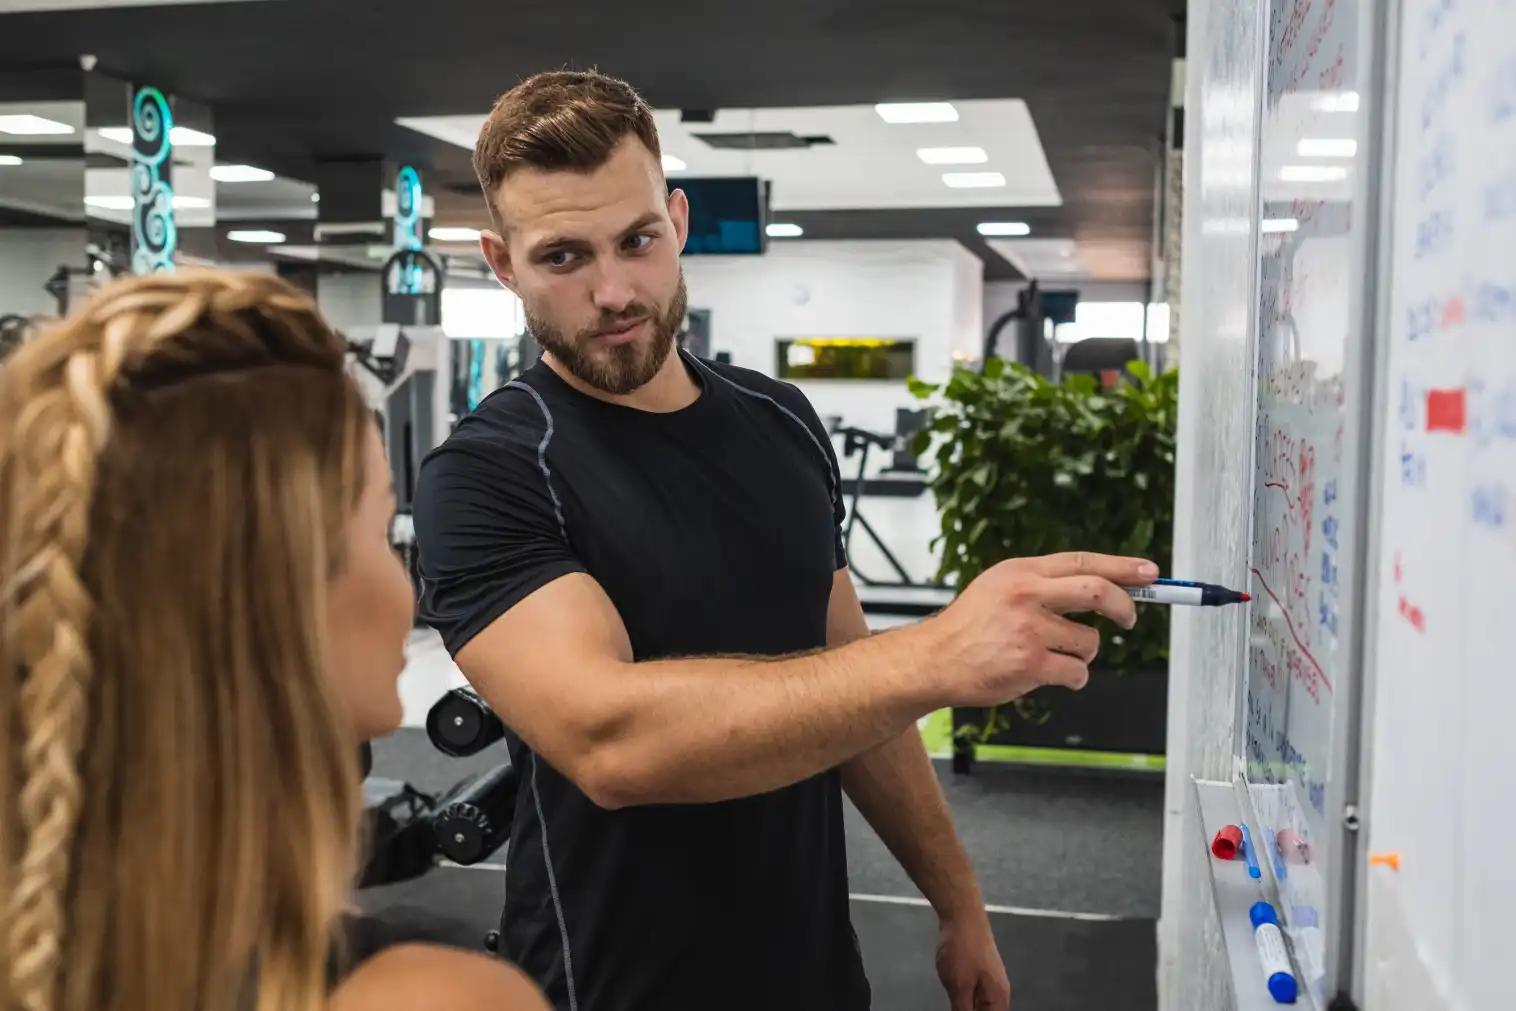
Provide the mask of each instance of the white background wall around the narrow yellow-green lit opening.
MULTIPOLYGON (((770 376, 778 338, 901 336, 916 340, 916 373, 938 382, 955 353, 978 355, 984 335, 984 267, 955 241, 776 241, 761 258, 687 256, 684 273, 691 308, 711 311, 711 352, 731 352, 734 365, 770 376)), ((904 382, 797 385, 823 418, 841 415, 876 432, 894 430, 896 408, 920 406, 904 382)), ((885 462, 873 450, 869 471, 885 462)), ((841 459, 844 476, 857 467, 857 458, 841 459)), ((867 497, 860 511, 914 579, 935 574, 931 493, 867 497)), ((852 549, 857 568, 894 577, 861 529, 852 549)))

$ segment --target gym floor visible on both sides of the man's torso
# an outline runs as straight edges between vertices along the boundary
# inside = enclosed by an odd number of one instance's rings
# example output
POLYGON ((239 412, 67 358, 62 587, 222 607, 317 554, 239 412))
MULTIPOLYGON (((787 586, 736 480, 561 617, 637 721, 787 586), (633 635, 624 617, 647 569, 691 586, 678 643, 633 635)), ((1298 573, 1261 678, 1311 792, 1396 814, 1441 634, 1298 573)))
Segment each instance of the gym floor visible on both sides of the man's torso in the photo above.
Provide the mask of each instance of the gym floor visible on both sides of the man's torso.
MULTIPOLYGON (((505 761, 502 744, 447 758, 418 729, 429 700, 462 681, 440 650, 424 635, 412 644, 402 681, 409 726, 374 743, 373 768, 376 778, 434 794, 505 761)), ((1014 1011, 1157 1008, 1163 778, 984 762, 972 776, 938 762, 938 778, 979 873, 1014 1011)), ((935 916, 852 808, 847 858, 875 1011, 946 1011, 932 964, 935 916)), ((362 903, 447 919, 459 926, 456 943, 482 946, 505 894, 493 861, 371 888, 362 903)))

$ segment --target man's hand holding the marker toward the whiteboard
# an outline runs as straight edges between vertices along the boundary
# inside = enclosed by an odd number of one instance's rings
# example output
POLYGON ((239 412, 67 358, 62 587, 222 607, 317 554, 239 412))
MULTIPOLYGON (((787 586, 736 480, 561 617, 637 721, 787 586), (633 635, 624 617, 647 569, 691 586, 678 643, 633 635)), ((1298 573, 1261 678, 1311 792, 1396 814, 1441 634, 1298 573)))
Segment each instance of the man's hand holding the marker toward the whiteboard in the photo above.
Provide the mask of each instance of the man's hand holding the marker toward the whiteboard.
POLYGON ((1101 635, 1063 615, 1093 611, 1129 629, 1137 605, 1125 588, 1157 576, 1158 567, 1140 558, 1088 552, 1013 558, 985 570, 922 624, 935 640, 944 703, 993 706, 1043 685, 1082 688, 1101 635))

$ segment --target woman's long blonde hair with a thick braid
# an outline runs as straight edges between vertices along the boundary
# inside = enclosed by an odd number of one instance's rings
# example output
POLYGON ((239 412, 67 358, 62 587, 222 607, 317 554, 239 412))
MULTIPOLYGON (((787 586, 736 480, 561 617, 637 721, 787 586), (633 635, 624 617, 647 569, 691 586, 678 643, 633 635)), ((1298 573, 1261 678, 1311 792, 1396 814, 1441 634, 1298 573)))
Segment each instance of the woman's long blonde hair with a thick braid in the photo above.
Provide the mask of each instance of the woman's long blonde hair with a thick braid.
POLYGON ((0 367, 5 1011, 324 1002, 359 773, 323 602, 373 424, 344 352, 288 283, 193 273, 0 367))

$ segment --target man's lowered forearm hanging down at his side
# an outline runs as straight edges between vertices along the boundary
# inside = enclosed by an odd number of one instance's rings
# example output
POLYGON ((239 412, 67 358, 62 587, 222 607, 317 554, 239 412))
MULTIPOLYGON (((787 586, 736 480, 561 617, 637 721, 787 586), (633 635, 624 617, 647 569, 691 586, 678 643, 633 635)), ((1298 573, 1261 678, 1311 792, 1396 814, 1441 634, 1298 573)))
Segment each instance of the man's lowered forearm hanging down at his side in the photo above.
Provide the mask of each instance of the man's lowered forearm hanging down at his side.
POLYGON ((973 865, 914 725, 846 762, 843 788, 940 919, 982 914, 973 865))

